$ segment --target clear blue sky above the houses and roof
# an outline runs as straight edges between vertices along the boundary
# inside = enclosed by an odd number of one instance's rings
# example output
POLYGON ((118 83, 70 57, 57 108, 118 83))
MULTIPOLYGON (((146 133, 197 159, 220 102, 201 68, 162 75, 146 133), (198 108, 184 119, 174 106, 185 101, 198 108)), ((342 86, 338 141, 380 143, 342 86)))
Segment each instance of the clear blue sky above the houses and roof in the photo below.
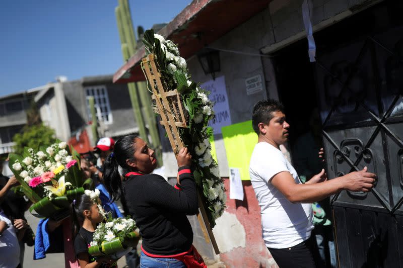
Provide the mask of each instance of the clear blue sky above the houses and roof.
MULTIPOLYGON (((129 0, 133 25, 168 23, 191 0, 129 0), (145 16, 144 14, 149 14, 145 16)), ((0 9, 0 97, 122 64, 117 0, 8 0, 0 9)))

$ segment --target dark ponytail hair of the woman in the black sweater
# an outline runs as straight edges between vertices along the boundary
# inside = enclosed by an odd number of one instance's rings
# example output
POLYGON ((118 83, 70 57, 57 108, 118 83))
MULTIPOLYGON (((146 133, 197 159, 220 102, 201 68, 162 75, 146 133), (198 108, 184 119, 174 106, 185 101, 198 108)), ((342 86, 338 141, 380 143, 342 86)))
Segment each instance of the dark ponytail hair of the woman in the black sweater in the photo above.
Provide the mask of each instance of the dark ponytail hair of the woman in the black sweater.
POLYGON ((102 181, 113 201, 118 200, 122 193, 119 166, 123 169, 123 176, 133 170, 133 168, 126 163, 126 160, 133 160, 136 138, 136 135, 127 135, 118 139, 115 143, 113 153, 110 153, 108 157, 106 157, 103 164, 104 172, 102 173, 102 181))

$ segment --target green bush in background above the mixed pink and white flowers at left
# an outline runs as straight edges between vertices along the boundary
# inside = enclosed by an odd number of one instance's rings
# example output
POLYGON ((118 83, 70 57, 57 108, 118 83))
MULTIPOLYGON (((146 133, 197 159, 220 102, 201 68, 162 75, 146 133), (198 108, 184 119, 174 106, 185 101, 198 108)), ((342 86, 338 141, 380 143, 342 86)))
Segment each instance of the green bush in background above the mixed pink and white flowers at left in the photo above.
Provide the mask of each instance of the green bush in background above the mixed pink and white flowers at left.
POLYGON ((25 126, 22 133, 17 133, 13 137, 13 142, 16 143, 15 153, 22 155, 25 147, 37 150, 39 146, 50 146, 56 142, 54 136, 54 130, 43 124, 25 126))

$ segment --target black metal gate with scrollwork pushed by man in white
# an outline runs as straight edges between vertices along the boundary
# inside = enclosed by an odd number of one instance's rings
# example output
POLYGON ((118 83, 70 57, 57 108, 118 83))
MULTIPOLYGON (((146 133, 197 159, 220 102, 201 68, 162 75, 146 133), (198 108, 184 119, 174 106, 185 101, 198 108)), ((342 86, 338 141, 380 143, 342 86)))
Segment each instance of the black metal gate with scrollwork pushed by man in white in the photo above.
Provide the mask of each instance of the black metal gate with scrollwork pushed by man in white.
POLYGON ((331 198, 339 266, 403 267, 403 27, 321 55, 316 80, 328 177, 378 175, 331 198))

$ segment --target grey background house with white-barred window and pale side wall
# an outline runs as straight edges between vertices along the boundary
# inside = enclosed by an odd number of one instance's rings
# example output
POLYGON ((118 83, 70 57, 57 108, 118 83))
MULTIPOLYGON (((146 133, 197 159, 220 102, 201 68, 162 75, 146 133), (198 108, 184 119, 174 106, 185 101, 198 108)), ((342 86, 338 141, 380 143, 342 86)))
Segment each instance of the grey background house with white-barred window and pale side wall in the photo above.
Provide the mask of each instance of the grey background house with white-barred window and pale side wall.
MULTIPOLYGON (((35 101, 42 121, 55 130, 57 138, 79 140, 85 131, 89 139, 86 144, 94 146, 97 141, 91 132, 90 96, 94 97, 99 137, 117 138, 138 132, 127 86, 113 84, 111 75, 48 84, 35 101)), ((85 147, 90 149, 88 145, 85 147)))

